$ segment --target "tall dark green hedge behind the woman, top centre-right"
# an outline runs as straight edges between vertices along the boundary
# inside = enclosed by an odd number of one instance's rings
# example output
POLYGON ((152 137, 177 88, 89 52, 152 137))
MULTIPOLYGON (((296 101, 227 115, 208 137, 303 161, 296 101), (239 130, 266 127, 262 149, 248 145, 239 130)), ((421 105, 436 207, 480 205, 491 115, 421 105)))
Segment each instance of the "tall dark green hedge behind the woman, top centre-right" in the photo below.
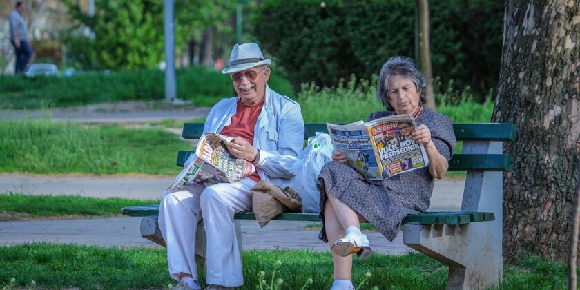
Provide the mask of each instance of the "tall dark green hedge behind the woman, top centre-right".
MULTIPOLYGON (((255 35, 298 88, 368 79, 391 56, 414 55, 414 1, 264 3, 255 35)), ((498 81, 503 2, 429 1, 433 74, 483 96, 498 81)))

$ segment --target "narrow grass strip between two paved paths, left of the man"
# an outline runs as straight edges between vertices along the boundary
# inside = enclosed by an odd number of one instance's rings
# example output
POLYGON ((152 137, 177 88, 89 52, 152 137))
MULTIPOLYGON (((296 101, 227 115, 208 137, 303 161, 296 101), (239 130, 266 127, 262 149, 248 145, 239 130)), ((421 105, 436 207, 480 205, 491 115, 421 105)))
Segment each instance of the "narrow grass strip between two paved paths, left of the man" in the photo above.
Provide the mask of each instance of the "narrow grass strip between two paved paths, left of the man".
POLYGON ((95 198, 71 195, 0 194, 0 213, 26 218, 58 218, 63 216, 109 217, 119 215, 124 206, 159 204, 159 200, 128 198, 95 198))

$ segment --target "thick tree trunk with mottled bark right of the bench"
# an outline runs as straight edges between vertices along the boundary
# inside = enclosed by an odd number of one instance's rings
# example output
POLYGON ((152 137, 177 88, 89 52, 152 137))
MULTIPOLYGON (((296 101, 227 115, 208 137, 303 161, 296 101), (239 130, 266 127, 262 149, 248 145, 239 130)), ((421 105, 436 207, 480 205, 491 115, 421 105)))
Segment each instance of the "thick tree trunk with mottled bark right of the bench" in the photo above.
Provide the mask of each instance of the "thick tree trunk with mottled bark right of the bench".
POLYGON ((505 146, 503 253, 565 260, 579 163, 580 4, 508 0, 494 122, 517 126, 505 146))

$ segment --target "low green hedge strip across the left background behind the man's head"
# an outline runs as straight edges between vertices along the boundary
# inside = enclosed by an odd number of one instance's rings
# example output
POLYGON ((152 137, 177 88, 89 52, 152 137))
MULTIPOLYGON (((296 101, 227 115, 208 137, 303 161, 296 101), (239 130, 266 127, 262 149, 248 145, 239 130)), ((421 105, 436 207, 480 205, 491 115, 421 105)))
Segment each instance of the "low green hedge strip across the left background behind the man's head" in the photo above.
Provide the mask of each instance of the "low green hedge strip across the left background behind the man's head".
MULTIPOLYGON (((293 96, 291 85, 274 70, 269 86, 293 96)), ((0 76, 0 109, 46 108, 108 101, 164 99, 164 73, 160 70, 79 72, 71 77, 0 76)), ((177 97, 199 106, 213 106, 233 96, 232 81, 218 70, 191 66, 177 70, 177 97)))

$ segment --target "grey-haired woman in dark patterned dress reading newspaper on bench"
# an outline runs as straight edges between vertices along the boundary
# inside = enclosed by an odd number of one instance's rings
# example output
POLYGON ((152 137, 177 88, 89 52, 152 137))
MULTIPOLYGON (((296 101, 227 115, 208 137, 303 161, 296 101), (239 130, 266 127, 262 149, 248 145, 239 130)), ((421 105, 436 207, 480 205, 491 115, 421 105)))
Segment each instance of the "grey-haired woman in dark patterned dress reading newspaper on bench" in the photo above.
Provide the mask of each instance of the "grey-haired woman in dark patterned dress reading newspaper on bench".
POLYGON ((387 110, 372 113, 369 119, 411 114, 417 124, 412 138, 425 146, 429 166, 383 181, 369 181, 346 164, 345 155, 334 151, 333 161, 320 172, 323 227, 318 238, 331 247, 335 279, 331 289, 354 289, 351 254, 359 258, 372 254, 360 222, 370 222, 392 242, 405 215, 427 210, 434 178, 442 178, 449 168, 456 140, 452 122, 423 107, 426 83, 411 59, 389 59, 380 70, 377 84, 377 97, 387 110))

